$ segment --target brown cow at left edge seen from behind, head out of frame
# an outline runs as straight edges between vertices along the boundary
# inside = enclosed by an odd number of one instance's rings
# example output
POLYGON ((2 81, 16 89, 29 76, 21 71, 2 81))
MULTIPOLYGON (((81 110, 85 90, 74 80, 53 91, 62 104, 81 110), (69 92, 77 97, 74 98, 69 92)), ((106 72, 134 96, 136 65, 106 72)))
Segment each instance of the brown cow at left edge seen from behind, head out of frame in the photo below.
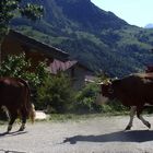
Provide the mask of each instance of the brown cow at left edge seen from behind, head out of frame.
POLYGON ((0 78, 0 107, 7 107, 9 111, 9 126, 8 132, 12 129, 12 125, 17 118, 22 119, 20 131, 25 129, 27 117, 32 121, 35 118, 35 110, 30 102, 30 87, 28 84, 19 78, 0 78))

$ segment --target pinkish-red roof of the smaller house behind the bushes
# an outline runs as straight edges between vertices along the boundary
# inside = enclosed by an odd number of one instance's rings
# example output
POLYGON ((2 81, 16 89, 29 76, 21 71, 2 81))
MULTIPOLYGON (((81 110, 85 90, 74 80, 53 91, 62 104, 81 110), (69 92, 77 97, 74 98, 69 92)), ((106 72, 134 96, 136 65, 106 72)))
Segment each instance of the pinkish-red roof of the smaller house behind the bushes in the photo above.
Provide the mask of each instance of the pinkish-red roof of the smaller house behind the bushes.
MULTIPOLYGON (((52 74, 57 74, 58 71, 67 71, 68 69, 74 67, 75 64, 82 67, 83 69, 91 71, 89 68, 86 68, 85 66, 79 63, 79 61, 76 60, 68 60, 66 62, 62 62, 60 60, 55 59, 48 67, 48 70, 50 71, 50 73, 52 74)), ((91 71, 93 72, 93 71, 91 71)))

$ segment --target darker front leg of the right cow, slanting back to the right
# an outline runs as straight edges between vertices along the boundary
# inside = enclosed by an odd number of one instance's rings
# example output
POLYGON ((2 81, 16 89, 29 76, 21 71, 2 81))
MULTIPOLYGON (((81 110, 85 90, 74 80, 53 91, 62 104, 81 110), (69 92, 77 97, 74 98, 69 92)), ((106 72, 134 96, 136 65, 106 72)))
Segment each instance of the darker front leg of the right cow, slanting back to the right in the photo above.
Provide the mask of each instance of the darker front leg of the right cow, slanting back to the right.
POLYGON ((151 123, 142 117, 141 115, 142 110, 143 110, 143 107, 137 107, 137 117, 150 129, 151 123))

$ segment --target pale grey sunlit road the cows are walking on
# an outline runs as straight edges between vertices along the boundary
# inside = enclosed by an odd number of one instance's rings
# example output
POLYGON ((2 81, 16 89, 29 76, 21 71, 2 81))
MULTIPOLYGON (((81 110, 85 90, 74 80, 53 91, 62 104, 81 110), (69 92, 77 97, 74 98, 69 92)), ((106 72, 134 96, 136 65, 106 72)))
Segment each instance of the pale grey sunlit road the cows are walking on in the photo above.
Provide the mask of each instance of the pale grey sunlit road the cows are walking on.
MULTIPOLYGON (((137 118, 131 131, 122 131, 128 117, 96 117, 67 122, 36 122, 26 131, 3 134, 0 153, 153 153, 153 130, 137 118)), ((146 117, 153 125, 153 117, 146 117)))

